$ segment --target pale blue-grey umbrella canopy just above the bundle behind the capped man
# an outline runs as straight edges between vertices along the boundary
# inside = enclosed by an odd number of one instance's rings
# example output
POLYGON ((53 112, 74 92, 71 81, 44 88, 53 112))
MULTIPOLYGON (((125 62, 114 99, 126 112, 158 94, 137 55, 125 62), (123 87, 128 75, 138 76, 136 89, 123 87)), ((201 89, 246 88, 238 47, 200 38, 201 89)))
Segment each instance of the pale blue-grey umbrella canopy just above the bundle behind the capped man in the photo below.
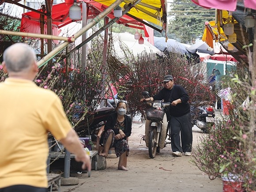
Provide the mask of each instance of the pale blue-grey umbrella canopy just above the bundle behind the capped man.
POLYGON ((186 47, 174 39, 168 39, 166 42, 164 37, 154 37, 154 46, 161 51, 190 55, 186 47))

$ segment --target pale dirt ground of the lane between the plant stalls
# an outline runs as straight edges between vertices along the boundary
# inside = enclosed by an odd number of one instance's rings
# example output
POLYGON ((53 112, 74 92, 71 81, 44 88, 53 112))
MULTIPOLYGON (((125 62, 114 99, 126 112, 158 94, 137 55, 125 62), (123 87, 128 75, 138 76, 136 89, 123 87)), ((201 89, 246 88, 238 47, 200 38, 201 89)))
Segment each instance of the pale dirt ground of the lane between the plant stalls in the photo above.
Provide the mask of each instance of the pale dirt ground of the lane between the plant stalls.
MULTIPOLYGON (((106 158, 105 170, 92 170, 91 177, 87 173, 72 173, 72 177, 79 178, 79 184, 61 186, 61 192, 222 192, 221 179, 211 181, 192 165, 191 157, 173 157, 170 144, 151 159, 141 139, 144 130, 145 123, 133 123, 129 137, 128 171, 117 170, 119 158, 111 154, 109 157, 112 158, 106 158)), ((201 130, 194 126, 194 148, 200 142, 201 134, 201 130)))

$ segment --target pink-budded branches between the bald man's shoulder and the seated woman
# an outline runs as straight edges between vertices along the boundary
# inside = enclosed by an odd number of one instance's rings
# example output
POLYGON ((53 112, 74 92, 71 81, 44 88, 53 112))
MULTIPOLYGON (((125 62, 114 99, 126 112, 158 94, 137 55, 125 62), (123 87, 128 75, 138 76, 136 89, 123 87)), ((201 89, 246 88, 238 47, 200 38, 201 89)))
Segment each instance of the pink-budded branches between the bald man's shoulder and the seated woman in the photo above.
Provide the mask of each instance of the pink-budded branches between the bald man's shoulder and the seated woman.
POLYGON ((55 66, 41 68, 35 82, 39 87, 53 90, 61 99, 64 111, 75 127, 78 135, 87 132, 94 110, 98 107, 102 93, 102 76, 93 65, 85 71, 69 69, 66 72, 64 61, 57 61, 55 66))

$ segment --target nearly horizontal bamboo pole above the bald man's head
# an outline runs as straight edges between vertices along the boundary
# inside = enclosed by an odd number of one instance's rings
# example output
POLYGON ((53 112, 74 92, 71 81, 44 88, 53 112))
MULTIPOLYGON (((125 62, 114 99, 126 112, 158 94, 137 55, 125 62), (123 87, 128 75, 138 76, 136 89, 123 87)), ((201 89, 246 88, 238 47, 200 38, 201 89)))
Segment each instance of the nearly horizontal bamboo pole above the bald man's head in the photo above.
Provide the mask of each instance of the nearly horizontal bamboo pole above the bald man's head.
POLYGON ((30 37, 30 38, 52 39, 52 40, 60 40, 60 41, 72 41, 72 42, 75 41, 75 38, 59 37, 59 36, 55 36, 55 35, 46 35, 46 34, 16 32, 16 31, 8 31, 8 30, 0 30, 0 34, 24 36, 24 37, 30 37))

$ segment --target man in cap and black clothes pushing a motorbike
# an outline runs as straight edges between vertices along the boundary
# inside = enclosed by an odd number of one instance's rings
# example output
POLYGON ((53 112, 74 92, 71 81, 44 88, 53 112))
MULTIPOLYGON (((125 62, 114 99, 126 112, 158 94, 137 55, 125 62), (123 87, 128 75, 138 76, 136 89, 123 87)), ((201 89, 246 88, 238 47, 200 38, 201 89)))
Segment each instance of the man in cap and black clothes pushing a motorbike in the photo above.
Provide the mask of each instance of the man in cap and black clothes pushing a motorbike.
POLYGON ((164 88, 153 97, 143 98, 140 101, 164 100, 170 102, 169 124, 171 128, 172 155, 181 157, 191 155, 192 151, 192 124, 188 93, 180 85, 174 85, 173 76, 166 75, 162 81, 164 88), (181 137, 180 137, 181 135, 181 137))

